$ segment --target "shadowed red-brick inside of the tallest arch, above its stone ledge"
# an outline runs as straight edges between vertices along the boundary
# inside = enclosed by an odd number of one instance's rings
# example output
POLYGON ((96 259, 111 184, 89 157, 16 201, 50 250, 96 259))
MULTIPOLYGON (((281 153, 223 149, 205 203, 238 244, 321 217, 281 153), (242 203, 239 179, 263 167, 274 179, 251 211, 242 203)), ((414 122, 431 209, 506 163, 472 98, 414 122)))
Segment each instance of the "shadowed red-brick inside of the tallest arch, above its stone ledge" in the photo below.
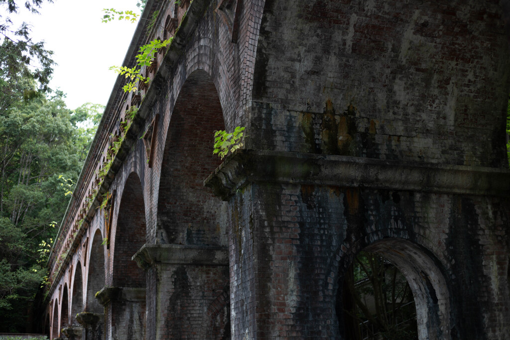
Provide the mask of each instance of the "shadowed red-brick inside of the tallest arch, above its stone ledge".
POLYGON ((225 244, 218 222, 222 203, 203 186, 221 164, 212 146, 214 131, 224 128, 216 86, 206 71, 193 72, 175 102, 166 135, 158 197, 159 242, 225 244))

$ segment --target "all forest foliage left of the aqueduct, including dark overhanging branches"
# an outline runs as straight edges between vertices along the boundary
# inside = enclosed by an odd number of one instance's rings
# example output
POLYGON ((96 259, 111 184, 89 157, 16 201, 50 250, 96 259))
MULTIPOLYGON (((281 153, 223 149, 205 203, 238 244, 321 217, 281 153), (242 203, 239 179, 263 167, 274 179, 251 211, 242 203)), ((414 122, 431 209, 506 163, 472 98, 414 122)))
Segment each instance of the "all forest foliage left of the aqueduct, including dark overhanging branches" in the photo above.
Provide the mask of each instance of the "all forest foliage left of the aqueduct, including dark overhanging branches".
MULTIPOLYGON (((22 3, 32 13, 43 0, 22 3)), ((103 107, 66 108, 48 84, 52 51, 14 27, 19 4, 0 0, 0 332, 24 332, 103 107)))

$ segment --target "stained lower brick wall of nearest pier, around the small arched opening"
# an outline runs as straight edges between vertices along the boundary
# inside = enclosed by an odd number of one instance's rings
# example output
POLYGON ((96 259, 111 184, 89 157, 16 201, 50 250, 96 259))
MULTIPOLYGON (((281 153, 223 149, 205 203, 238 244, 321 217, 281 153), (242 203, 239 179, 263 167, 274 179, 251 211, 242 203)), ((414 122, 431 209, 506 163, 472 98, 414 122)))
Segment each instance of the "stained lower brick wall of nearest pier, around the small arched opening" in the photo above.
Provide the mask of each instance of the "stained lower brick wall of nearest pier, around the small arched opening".
POLYGON ((261 184, 231 204, 234 337, 337 338, 342 277, 364 249, 435 285, 449 328, 419 324, 423 338, 503 338, 509 326, 507 200, 261 184))

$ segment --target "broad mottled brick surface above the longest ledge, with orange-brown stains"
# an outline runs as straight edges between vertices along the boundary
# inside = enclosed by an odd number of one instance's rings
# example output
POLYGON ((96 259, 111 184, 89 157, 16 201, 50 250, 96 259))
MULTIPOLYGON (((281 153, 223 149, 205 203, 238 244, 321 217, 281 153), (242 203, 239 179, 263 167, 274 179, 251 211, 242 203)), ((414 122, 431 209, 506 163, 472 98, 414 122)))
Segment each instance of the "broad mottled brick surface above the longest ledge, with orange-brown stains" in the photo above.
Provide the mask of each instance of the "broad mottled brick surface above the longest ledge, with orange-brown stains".
POLYGON ((501 16, 498 2, 266 1, 253 148, 505 166, 501 16))

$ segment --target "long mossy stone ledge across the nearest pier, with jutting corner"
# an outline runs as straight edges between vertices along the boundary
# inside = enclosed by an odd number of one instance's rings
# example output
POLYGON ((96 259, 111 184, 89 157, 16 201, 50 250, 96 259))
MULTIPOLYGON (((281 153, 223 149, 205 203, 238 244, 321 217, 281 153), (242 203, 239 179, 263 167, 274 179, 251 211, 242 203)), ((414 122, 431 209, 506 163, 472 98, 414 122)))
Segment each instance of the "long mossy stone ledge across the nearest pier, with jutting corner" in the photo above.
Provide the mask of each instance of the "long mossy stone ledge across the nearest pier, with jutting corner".
POLYGON ((510 170, 324 155, 237 150, 204 181, 227 200, 248 182, 510 196, 510 170))

